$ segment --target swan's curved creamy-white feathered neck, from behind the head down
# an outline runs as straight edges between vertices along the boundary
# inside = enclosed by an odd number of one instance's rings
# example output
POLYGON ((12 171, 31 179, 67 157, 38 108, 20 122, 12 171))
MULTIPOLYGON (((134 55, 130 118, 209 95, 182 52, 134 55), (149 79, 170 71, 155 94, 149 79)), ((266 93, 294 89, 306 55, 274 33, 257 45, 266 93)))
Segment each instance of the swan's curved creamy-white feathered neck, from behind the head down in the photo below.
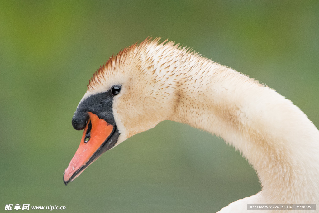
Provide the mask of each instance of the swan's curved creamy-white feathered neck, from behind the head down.
POLYGON ((205 58, 185 54, 169 61, 161 72, 163 77, 175 73, 170 84, 179 97, 169 119, 222 137, 248 159, 261 181, 260 193, 221 212, 245 212, 247 203, 319 204, 319 131, 298 107, 205 58))

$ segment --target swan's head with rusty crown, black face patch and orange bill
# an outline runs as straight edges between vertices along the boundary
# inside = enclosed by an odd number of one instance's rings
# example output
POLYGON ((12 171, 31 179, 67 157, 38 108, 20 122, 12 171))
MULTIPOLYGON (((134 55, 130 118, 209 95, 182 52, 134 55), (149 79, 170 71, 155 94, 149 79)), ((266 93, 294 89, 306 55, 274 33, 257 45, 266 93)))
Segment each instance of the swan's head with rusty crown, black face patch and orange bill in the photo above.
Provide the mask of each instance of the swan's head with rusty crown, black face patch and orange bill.
POLYGON ((84 132, 63 174, 65 185, 108 149, 174 113, 178 82, 167 77, 170 72, 161 73, 164 62, 156 58, 166 50, 177 47, 171 42, 159 45, 158 39, 146 39, 110 57, 93 74, 72 118, 72 126, 84 132))

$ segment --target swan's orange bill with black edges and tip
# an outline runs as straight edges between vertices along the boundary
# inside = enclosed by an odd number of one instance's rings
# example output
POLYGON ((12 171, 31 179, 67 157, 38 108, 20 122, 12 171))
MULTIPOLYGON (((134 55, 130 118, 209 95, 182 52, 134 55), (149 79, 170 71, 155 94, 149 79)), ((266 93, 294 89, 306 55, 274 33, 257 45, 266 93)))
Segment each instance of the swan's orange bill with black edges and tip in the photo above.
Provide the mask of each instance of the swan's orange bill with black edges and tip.
POLYGON ((86 167, 106 150, 112 148, 116 142, 116 140, 112 140, 116 127, 92 112, 88 112, 88 114, 89 120, 85 126, 80 146, 63 174, 65 185, 77 178, 86 167))

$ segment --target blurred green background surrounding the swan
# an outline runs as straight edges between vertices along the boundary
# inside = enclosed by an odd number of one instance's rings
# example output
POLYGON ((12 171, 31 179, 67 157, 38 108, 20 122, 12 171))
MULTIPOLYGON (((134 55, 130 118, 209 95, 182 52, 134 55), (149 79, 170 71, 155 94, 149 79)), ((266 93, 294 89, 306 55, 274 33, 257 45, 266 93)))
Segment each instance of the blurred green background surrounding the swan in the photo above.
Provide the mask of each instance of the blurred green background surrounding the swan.
POLYGON ((71 118, 89 78, 148 36, 260 80, 319 126, 317 0, 1 1, 0 209, 215 212, 260 191, 255 171, 222 139, 171 121, 106 152, 64 186, 82 136, 71 118))

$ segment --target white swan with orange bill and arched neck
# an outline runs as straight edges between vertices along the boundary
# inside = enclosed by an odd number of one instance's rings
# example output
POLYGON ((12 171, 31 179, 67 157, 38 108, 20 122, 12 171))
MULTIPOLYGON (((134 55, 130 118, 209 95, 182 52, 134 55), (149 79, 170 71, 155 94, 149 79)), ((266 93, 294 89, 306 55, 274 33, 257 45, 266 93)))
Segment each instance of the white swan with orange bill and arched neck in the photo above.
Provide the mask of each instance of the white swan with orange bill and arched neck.
POLYGON ((84 133, 65 185, 108 149, 172 120, 222 137, 256 170, 262 190, 219 212, 252 212, 249 203, 319 203, 319 131, 270 87, 159 38, 110 57, 87 87, 72 118, 84 133))

